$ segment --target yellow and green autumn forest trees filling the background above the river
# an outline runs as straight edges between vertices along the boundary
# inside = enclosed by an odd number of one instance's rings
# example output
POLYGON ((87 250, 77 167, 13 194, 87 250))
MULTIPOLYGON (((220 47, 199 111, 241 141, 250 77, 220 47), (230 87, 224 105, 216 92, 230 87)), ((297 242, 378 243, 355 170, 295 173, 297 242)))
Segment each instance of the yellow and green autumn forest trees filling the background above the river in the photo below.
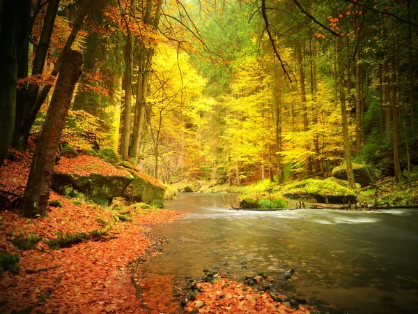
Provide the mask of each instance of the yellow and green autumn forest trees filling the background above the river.
POLYGON ((355 188, 353 161, 398 182, 417 165, 412 0, 3 0, 1 13, 1 160, 39 135, 75 50, 61 154, 112 149, 167 183, 343 165, 355 188))

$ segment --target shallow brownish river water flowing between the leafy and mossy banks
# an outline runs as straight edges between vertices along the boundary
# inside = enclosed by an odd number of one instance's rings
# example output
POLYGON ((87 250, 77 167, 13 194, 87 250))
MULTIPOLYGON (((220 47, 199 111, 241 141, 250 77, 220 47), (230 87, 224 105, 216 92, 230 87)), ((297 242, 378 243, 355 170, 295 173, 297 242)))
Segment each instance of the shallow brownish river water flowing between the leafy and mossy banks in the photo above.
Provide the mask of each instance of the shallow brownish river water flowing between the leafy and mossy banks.
POLYGON ((418 313, 418 211, 231 211, 236 195, 184 193, 167 209, 190 213, 155 227, 162 253, 148 274, 229 278, 288 269, 297 297, 349 313, 418 313))

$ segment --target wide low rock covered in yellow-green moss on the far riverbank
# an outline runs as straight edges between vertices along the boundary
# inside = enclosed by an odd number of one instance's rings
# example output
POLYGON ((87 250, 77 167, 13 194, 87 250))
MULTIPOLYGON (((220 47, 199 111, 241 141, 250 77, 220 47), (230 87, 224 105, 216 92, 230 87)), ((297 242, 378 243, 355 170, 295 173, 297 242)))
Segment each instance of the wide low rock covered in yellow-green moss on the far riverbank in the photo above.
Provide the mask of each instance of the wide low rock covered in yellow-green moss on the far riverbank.
POLYGON ((280 192, 288 198, 300 198, 301 196, 313 197, 317 202, 330 204, 356 203, 357 195, 330 179, 305 179, 281 186, 280 192))

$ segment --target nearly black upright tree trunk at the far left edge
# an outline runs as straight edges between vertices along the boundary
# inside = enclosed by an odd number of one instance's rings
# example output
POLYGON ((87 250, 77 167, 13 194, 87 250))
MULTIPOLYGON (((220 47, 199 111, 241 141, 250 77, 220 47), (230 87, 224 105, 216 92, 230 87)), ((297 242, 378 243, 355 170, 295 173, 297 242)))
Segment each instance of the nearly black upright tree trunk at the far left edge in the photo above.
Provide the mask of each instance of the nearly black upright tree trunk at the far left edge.
POLYGON ((19 4, 4 1, 0 33, 0 165, 13 137, 17 86, 17 21, 19 4))

